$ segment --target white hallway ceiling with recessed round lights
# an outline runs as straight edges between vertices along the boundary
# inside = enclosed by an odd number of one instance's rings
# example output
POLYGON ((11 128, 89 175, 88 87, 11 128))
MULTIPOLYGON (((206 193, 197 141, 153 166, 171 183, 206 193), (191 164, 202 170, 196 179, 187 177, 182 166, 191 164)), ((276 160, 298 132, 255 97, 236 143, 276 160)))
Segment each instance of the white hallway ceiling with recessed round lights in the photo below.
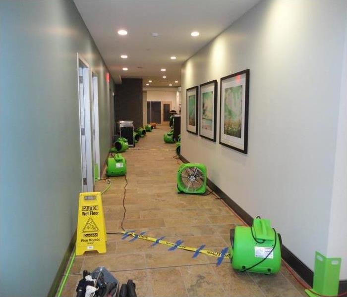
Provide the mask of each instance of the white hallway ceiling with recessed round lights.
POLYGON ((156 87, 179 86, 182 63, 258 1, 74 0, 116 83, 120 76, 136 77, 144 85, 151 79, 156 87), (119 29, 128 35, 118 35, 119 29), (192 31, 200 36, 191 37, 192 31), (171 60, 172 55, 177 59, 171 60))

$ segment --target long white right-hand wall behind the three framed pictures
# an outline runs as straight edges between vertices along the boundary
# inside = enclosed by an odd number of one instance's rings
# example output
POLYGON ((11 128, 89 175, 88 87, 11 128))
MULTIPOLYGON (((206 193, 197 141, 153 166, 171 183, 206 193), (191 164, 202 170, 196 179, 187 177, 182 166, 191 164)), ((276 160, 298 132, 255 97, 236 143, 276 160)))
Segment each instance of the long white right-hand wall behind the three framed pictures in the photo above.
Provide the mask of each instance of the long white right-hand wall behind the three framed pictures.
POLYGON ((261 1, 182 66, 182 155, 312 270, 328 251, 346 19, 344 0, 261 1), (247 68, 248 154, 219 127, 217 143, 187 133, 185 90, 247 68))

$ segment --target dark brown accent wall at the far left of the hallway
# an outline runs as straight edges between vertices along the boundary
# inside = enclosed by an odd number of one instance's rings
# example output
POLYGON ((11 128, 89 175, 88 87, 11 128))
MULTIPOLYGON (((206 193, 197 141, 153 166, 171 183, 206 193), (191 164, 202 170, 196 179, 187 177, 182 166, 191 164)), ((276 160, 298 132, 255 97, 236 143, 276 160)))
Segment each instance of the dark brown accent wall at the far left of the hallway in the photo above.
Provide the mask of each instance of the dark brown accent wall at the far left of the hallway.
POLYGON ((142 79, 123 78, 115 89, 115 118, 134 121, 134 128, 142 126, 142 79))

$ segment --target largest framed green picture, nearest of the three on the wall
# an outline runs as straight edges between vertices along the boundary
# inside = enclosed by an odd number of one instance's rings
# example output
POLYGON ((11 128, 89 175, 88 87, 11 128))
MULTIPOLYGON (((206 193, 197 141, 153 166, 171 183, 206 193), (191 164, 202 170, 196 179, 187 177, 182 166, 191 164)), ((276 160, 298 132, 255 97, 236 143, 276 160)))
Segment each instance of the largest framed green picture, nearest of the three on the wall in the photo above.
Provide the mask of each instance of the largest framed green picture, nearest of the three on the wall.
POLYGON ((219 143, 248 150, 249 69, 221 78, 219 143))

